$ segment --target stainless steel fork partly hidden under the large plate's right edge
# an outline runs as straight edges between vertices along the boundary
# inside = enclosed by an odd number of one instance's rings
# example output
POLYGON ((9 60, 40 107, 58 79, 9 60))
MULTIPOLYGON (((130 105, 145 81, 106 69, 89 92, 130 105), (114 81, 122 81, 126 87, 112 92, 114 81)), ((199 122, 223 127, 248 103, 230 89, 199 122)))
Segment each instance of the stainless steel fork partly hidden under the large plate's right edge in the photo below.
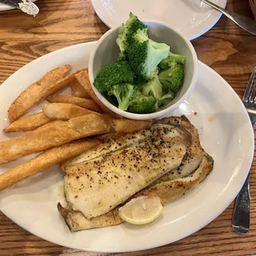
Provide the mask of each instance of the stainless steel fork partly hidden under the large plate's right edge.
MULTIPOLYGON (((244 107, 246 107, 249 113, 249 117, 253 126, 256 123, 256 82, 254 83, 255 74, 256 67, 254 68, 254 72, 249 78, 249 83, 247 84, 247 88, 243 97, 244 107)), ((245 235, 249 232, 250 199, 248 174, 244 186, 236 197, 232 218, 232 228, 239 235, 245 235)))

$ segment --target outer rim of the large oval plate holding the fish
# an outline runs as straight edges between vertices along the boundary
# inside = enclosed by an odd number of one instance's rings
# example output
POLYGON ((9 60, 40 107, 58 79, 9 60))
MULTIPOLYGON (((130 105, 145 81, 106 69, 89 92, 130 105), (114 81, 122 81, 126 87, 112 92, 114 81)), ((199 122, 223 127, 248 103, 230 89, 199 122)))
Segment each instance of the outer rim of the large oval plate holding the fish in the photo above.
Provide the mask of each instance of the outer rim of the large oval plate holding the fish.
MULTIPOLYGON (((49 53, 49 54, 47 54, 47 55, 43 55, 43 56, 41 56, 40 58, 34 59, 34 60, 31 61, 31 62, 38 62, 38 61, 40 61, 40 59, 49 58, 49 56, 51 56, 51 55, 59 55, 59 53, 61 53, 62 51, 70 50, 70 49, 75 48, 75 47, 83 47, 83 46, 85 46, 85 45, 96 45, 96 44, 97 44, 97 41, 92 41, 92 42, 88 42, 88 43, 82 43, 82 44, 78 44, 78 45, 71 45, 71 46, 65 47, 65 48, 63 48, 63 49, 60 49, 60 50, 56 50, 56 51, 54 51, 54 52, 51 52, 51 53, 49 53)), ((31 64, 31 62, 28 63, 28 64, 26 64, 26 65, 31 64)), ((233 91, 233 92, 232 92, 233 95, 234 95, 234 96, 239 100, 239 102, 241 103, 241 104, 240 104, 241 110, 243 109, 244 115, 247 116, 247 121, 248 121, 248 123, 250 124, 249 115, 248 115, 248 113, 247 113, 247 111, 246 111, 246 109, 245 109, 243 103, 241 102, 241 100, 240 100, 238 94, 237 94, 237 93, 235 92, 235 90, 230 86, 230 84, 227 83, 224 78, 222 78, 218 73, 216 73, 215 70, 211 69, 211 68, 208 67, 206 64, 203 64, 201 61, 198 61, 198 64, 201 65, 201 66, 203 67, 203 69, 208 69, 208 70, 209 70, 211 73, 213 73, 216 77, 220 78, 220 79, 222 80, 222 82, 225 84, 225 86, 229 87, 229 88, 231 89, 231 91, 233 91)), ((26 65, 25 65, 25 66, 26 66, 26 65)), ((24 68, 25 66, 21 67, 21 69, 24 68)), ((17 72, 13 73, 9 78, 11 78, 13 75, 19 75, 19 73, 22 72, 21 69, 18 69, 17 72)), ((0 86, 0 92, 1 92, 2 90, 4 90, 4 89, 7 87, 5 84, 8 83, 7 81, 8 81, 9 78, 7 78, 7 80, 4 81, 4 82, 2 83, 2 85, 0 86)), ((249 127, 250 127, 250 131, 251 131, 251 132, 250 132, 250 135, 251 135, 252 139, 254 139, 254 129, 253 129, 252 126, 249 126, 249 127)), ((251 145, 251 151, 252 151, 252 152, 251 152, 251 154, 250 154, 250 155, 251 155, 250 161, 246 164, 246 165, 248 166, 248 168, 247 168, 247 173, 249 173, 249 168, 250 168, 250 166, 251 166, 251 164, 252 164, 252 161, 253 161, 253 159, 254 159, 254 140, 250 140, 250 141, 252 141, 252 142, 251 142, 251 144, 252 144, 252 145, 251 145)), ((243 180, 243 182, 242 182, 242 180, 240 181, 239 189, 243 186, 246 177, 247 177, 247 175, 244 175, 244 180, 243 180)), ((239 192, 239 190, 238 190, 238 192, 239 192)), ((197 232, 198 230, 201 230, 201 228, 203 228, 204 226, 208 225, 212 220, 216 219, 216 217, 220 216, 220 214, 221 214, 223 211, 225 211, 225 209, 226 209, 228 206, 230 206, 230 203, 235 199, 235 197, 236 197, 236 195, 237 195, 238 192, 235 192, 235 194, 233 195, 233 197, 229 197, 229 198, 230 198, 229 203, 226 204, 225 206, 222 206, 221 209, 220 209, 220 211, 218 211, 218 213, 216 213, 214 216, 208 216, 208 217, 207 217, 207 220, 205 220, 203 224, 197 225, 197 227, 195 227, 194 229, 190 230, 190 232, 187 232, 185 236, 183 236, 183 237, 178 237, 177 239, 173 240, 171 243, 174 243, 175 241, 177 241, 177 240, 179 240, 179 239, 183 239, 183 238, 185 238, 185 237, 187 237, 187 236, 189 236, 189 235, 194 234, 194 233, 197 232)), ((2 210, 1 208, 0 208, 0 210, 2 211, 2 213, 3 213, 5 216, 7 216, 7 214, 5 213, 4 210, 2 210)), ((7 218, 9 218, 10 220, 12 220, 12 218, 9 217, 9 216, 7 216, 7 218)), ((29 233, 31 233, 31 231, 28 230, 28 229, 26 229, 22 224, 18 224, 18 221, 17 221, 17 222, 14 221, 14 220, 12 220, 12 221, 13 221, 14 223, 16 223, 17 225, 21 226, 22 229, 24 229, 24 230, 28 231, 29 233)), ((44 235, 38 235, 36 232, 33 232, 33 233, 31 233, 31 234, 36 235, 36 236, 40 237, 41 239, 45 239, 45 240, 47 240, 47 241, 50 241, 50 242, 53 243, 53 244, 56 244, 54 240, 47 239, 47 238, 45 238, 44 235)), ((112 250, 110 250, 110 251, 107 251, 106 249, 102 249, 102 250, 101 250, 101 249, 97 249, 97 250, 96 250, 96 249, 78 248, 78 247, 75 247, 75 246, 72 246, 72 245, 67 245, 67 244, 59 243, 59 241, 58 241, 58 244, 59 244, 59 245, 64 246, 64 247, 67 247, 67 246, 68 246, 68 247, 71 248, 71 249, 81 249, 81 250, 87 250, 87 251, 91 251, 91 252, 102 252, 102 253, 123 253, 123 252, 139 251, 139 250, 145 250, 145 249, 156 248, 156 247, 163 246, 163 245, 169 244, 169 243, 170 243, 170 242, 167 242, 167 241, 164 239, 163 243, 158 244, 158 245, 153 245, 153 246, 150 246, 150 247, 144 247, 144 248, 140 248, 140 249, 128 249, 128 250, 127 250, 127 249, 126 249, 126 250, 112 249, 112 250)))

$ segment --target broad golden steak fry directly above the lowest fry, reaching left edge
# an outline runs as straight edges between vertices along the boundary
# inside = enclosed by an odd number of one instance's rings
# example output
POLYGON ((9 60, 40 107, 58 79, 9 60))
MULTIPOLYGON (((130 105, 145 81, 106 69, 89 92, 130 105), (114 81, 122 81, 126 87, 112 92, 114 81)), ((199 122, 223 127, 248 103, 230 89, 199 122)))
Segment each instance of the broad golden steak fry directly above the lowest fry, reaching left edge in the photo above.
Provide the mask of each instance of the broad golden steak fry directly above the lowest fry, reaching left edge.
MULTIPOLYGON (((138 127, 140 127, 140 121, 133 123, 134 131, 138 130, 138 127)), ((0 142, 0 164, 11 162, 27 154, 64 145, 72 140, 111 131, 115 131, 112 119, 99 113, 74 117, 69 121, 52 121, 26 135, 0 142)))

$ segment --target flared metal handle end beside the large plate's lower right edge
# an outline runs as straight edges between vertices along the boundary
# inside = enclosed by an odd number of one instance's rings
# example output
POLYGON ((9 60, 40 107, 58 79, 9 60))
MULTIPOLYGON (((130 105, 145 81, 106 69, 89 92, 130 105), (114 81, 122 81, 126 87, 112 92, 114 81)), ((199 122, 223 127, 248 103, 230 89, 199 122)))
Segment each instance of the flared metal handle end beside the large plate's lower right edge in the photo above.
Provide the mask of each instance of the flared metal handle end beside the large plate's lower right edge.
POLYGON ((236 197, 235 208, 232 218, 232 228, 239 235, 249 232, 249 211, 250 211, 249 175, 244 186, 236 197))

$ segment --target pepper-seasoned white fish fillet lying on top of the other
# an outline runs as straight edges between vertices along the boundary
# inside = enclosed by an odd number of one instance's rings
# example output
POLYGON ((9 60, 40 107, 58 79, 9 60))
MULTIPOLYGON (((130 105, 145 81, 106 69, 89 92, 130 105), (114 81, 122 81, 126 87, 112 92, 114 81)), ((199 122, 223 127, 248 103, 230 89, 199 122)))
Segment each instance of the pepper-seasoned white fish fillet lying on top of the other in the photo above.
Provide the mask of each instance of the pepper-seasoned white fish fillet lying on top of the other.
POLYGON ((134 135, 145 140, 132 142, 135 139, 130 140, 129 136, 116 139, 117 150, 106 150, 103 144, 103 150, 102 147, 92 150, 92 158, 95 152, 101 153, 96 158, 64 167, 64 192, 74 210, 81 211, 88 219, 111 211, 178 167, 190 139, 187 132, 163 124, 134 135), (121 149, 122 146, 126 147, 121 149))

